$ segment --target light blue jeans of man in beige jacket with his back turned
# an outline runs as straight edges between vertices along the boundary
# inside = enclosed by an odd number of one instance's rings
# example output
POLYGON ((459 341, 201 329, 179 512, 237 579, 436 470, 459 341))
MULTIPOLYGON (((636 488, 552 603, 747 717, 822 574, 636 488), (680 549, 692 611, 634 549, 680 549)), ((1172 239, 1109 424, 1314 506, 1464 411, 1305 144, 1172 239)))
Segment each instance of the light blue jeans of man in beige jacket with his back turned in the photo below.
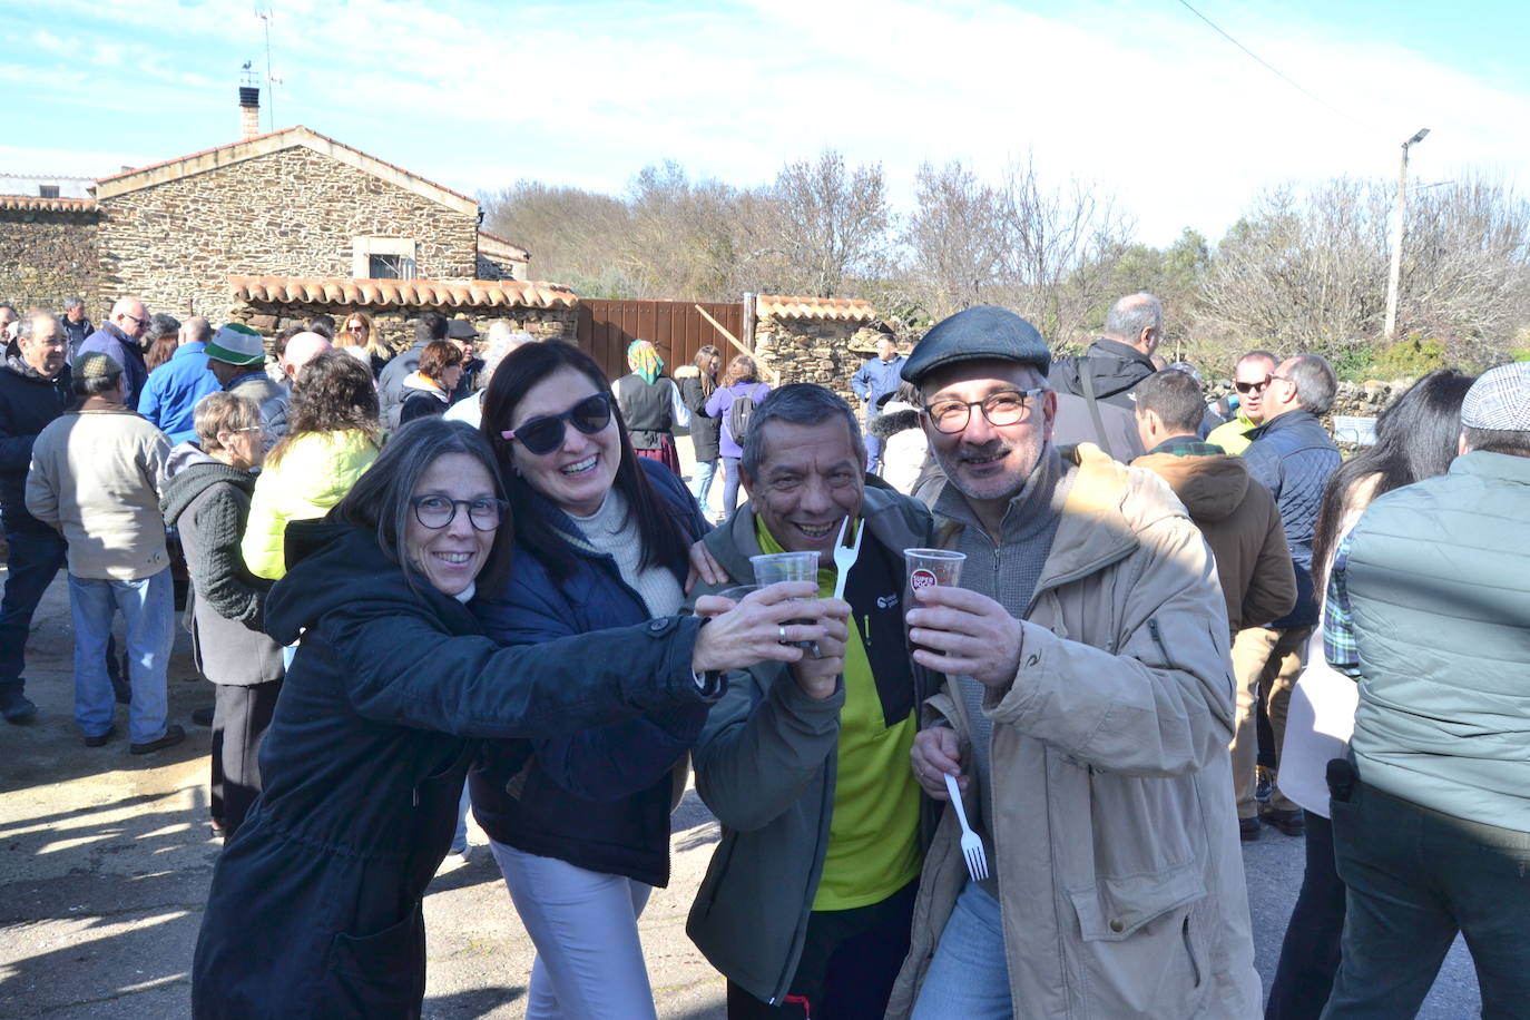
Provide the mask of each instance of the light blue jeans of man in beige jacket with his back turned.
POLYGON ((75 621, 75 723, 87 737, 112 728, 116 699, 106 673, 106 642, 113 612, 122 613, 133 699, 129 739, 150 743, 165 736, 165 667, 174 644, 174 595, 170 567, 138 581, 69 575, 69 610, 75 621))

